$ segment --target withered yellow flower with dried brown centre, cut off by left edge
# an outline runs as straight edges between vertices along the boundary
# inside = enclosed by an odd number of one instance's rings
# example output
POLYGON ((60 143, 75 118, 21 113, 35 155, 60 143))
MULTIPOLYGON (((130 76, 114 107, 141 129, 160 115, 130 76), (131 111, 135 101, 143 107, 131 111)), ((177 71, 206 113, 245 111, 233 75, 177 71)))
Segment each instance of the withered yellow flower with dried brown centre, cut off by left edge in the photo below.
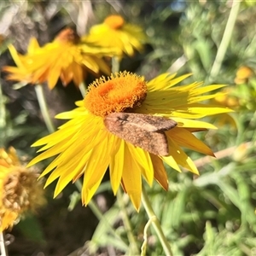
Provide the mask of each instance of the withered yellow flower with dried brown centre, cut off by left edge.
POLYGON ((0 148, 0 232, 12 227, 23 212, 44 204, 44 189, 37 180, 37 172, 21 166, 15 148, 0 148))

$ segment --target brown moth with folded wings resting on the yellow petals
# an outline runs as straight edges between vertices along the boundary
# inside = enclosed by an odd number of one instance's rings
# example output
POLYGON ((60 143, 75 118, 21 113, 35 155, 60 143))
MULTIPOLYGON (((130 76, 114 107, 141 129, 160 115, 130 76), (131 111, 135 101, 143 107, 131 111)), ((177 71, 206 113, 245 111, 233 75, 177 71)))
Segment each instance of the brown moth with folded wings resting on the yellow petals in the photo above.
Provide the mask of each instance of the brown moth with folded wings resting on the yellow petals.
POLYGON ((109 113, 104 125, 115 136, 152 154, 168 155, 165 131, 177 123, 172 119, 143 113, 109 113))

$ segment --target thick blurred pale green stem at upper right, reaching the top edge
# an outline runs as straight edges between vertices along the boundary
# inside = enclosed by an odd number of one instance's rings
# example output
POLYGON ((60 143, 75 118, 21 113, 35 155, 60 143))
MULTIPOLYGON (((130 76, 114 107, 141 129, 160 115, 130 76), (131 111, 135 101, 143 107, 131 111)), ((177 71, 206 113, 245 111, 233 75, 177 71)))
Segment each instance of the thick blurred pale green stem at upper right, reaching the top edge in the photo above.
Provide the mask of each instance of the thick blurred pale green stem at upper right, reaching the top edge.
POLYGON ((224 30, 224 35, 223 35, 223 38, 221 40, 221 43, 219 44, 218 52, 217 52, 217 55, 215 57, 213 65, 212 65, 212 70, 211 70, 211 73, 210 73, 209 82, 212 82, 212 80, 219 73, 220 67, 221 67, 222 62, 224 60, 224 55, 226 54, 226 50, 227 50, 227 48, 230 44, 230 39, 231 39, 232 32, 234 30, 234 26, 235 26, 235 23, 236 23, 236 17, 237 17, 238 12, 239 12, 240 3, 241 3, 241 0, 233 1, 232 8, 230 10, 230 16, 229 16, 229 19, 227 21, 227 24, 226 24, 226 27, 225 27, 225 30, 224 30))

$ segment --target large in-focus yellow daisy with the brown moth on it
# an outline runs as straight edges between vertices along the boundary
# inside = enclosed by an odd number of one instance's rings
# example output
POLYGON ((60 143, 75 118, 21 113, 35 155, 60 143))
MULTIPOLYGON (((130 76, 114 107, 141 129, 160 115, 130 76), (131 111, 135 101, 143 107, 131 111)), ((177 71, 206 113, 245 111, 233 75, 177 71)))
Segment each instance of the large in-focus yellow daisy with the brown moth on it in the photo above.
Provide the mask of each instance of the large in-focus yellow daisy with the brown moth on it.
POLYGON ((138 210, 142 176, 149 185, 155 179, 168 189, 163 162, 178 172, 181 172, 179 166, 183 166, 198 174, 195 164, 181 147, 213 155, 192 131, 216 127, 195 119, 230 112, 229 108, 199 103, 216 96, 201 94, 224 85, 174 86, 187 77, 189 75, 175 78, 164 73, 146 82, 143 77, 124 72, 111 75, 109 79, 96 79, 90 84, 84 101, 76 102, 78 108, 56 116, 70 120, 32 145, 45 145, 38 150, 45 151, 28 166, 58 155, 41 177, 51 172, 46 186, 58 178, 56 196, 67 183, 75 182, 84 174, 81 193, 85 205, 109 167, 114 195, 121 183, 138 210))

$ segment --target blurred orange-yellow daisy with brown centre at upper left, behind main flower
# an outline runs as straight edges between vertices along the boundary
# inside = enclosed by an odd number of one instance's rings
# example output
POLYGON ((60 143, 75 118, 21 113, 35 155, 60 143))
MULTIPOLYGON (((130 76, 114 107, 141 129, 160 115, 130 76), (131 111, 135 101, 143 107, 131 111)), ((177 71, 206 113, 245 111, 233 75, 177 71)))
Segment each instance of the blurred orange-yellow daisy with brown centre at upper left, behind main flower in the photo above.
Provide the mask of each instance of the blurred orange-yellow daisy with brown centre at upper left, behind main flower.
POLYGON ((43 47, 32 38, 26 55, 19 55, 13 45, 9 51, 17 67, 3 67, 10 73, 7 79, 25 84, 48 82, 49 89, 53 89, 60 78, 64 86, 71 80, 79 86, 87 72, 110 73, 102 60, 102 55, 110 55, 110 50, 82 44, 71 28, 61 31, 52 43, 43 47))

